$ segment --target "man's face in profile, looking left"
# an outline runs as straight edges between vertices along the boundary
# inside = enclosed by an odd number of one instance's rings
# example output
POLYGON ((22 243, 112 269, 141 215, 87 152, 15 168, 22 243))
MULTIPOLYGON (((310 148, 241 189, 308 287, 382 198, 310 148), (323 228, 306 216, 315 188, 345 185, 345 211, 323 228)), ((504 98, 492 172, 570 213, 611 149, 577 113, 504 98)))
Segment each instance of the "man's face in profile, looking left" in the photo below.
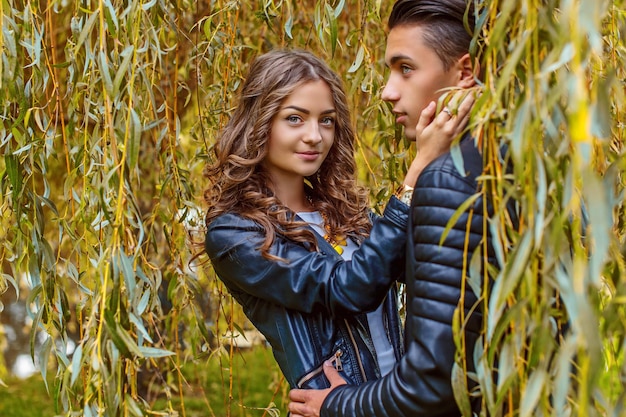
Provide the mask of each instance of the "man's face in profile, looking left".
POLYGON ((456 66, 444 70, 443 62, 422 39, 421 26, 397 26, 389 32, 385 53, 390 74, 382 99, 393 105, 396 123, 404 126, 405 136, 412 141, 424 107, 460 78, 456 66))

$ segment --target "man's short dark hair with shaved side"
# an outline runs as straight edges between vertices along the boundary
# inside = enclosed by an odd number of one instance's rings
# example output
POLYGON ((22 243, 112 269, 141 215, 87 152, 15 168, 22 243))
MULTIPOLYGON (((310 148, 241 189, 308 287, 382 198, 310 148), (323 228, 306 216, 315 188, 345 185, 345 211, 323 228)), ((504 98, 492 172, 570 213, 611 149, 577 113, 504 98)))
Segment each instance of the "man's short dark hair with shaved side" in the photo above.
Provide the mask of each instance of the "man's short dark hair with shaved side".
POLYGON ((424 44, 437 53, 448 71, 469 52, 475 25, 472 6, 472 0, 398 0, 388 27, 421 26, 424 44))

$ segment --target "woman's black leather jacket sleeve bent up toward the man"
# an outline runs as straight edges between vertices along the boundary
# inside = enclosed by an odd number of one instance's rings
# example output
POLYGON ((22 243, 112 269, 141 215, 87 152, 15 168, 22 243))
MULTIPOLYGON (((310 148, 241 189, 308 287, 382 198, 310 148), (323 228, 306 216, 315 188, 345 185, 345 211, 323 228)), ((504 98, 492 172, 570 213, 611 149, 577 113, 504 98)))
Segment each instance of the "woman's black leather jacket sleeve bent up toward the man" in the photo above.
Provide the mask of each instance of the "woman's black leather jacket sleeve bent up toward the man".
POLYGON ((205 248, 233 295, 239 292, 303 313, 325 311, 342 317, 374 310, 403 275, 407 219, 407 205, 392 197, 352 261, 344 261, 334 250, 311 252, 281 236, 270 251, 286 262, 265 259, 258 250, 263 229, 236 214, 211 222, 205 248))

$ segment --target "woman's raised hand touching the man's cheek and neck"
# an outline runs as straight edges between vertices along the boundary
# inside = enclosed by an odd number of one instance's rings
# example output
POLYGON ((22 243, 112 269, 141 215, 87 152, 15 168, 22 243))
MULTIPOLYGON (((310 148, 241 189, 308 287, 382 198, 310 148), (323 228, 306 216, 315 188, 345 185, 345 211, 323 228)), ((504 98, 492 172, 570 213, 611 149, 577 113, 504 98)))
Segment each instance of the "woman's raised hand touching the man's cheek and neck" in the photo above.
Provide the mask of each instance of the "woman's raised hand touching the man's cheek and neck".
POLYGON ((405 185, 413 187, 422 170, 450 150, 452 141, 467 126, 474 101, 474 91, 459 90, 439 113, 435 114, 437 103, 434 101, 422 110, 415 128, 417 155, 404 178, 405 185))

